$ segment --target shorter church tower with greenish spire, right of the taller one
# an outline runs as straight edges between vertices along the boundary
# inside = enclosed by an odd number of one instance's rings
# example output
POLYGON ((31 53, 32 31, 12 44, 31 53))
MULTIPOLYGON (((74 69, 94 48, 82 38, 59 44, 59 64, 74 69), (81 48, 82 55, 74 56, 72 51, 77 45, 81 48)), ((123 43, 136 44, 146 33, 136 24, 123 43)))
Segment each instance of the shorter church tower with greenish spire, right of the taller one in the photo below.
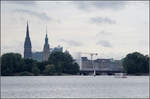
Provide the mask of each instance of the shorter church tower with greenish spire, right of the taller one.
POLYGON ((50 55, 50 48, 49 48, 49 44, 48 44, 47 28, 46 28, 45 44, 44 44, 44 48, 43 48, 43 61, 48 61, 49 55, 50 55))

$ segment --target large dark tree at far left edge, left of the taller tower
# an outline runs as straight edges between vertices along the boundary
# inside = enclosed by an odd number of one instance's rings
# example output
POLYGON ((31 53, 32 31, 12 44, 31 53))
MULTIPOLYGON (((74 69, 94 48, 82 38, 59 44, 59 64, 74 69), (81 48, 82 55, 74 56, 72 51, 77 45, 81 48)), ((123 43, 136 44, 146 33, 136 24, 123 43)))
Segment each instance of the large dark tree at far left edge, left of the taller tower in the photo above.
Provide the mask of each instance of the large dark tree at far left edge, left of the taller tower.
POLYGON ((22 70, 23 60, 18 53, 6 53, 1 57, 1 74, 13 75, 22 70))

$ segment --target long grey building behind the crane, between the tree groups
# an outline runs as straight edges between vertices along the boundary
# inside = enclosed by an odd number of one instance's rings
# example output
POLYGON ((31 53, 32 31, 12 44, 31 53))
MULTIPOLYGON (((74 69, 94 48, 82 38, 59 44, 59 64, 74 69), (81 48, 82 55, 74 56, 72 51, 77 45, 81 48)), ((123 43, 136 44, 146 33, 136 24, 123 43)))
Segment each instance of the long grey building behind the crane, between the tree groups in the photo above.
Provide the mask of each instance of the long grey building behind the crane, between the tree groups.
POLYGON ((88 60, 87 57, 81 57, 81 71, 122 71, 123 66, 120 60, 113 59, 96 59, 88 60))

